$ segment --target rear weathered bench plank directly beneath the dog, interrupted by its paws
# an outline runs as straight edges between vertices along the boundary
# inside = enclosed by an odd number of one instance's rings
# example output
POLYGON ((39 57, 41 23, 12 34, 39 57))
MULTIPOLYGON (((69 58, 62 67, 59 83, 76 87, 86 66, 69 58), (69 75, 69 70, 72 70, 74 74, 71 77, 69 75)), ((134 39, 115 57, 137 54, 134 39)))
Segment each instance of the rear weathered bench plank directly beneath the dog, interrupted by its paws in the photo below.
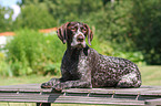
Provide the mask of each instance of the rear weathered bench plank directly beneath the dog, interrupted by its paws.
MULTIPOLYGON (((40 84, 0 86, 0 92, 52 92, 51 88, 40 88, 40 84)), ((161 94, 160 86, 141 86, 140 88, 70 88, 68 93, 94 93, 94 94, 161 94)))

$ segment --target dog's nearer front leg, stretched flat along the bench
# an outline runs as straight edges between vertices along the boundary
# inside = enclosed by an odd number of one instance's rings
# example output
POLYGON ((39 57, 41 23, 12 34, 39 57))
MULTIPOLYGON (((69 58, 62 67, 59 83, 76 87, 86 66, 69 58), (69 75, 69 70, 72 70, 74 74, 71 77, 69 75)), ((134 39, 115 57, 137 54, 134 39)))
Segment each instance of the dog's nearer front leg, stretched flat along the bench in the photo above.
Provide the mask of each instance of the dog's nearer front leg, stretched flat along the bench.
POLYGON ((52 86, 56 91, 62 91, 63 88, 91 88, 92 84, 85 81, 67 81, 52 86))

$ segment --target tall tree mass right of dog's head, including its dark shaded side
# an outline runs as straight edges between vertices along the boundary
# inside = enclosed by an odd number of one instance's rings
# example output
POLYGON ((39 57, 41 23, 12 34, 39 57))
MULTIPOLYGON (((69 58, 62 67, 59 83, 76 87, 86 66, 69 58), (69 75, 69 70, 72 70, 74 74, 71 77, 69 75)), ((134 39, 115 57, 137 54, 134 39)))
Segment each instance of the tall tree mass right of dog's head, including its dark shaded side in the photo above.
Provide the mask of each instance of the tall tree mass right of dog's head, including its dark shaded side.
POLYGON ((139 51, 148 64, 161 64, 160 4, 160 0, 109 2, 91 20, 97 34, 115 51, 139 51))

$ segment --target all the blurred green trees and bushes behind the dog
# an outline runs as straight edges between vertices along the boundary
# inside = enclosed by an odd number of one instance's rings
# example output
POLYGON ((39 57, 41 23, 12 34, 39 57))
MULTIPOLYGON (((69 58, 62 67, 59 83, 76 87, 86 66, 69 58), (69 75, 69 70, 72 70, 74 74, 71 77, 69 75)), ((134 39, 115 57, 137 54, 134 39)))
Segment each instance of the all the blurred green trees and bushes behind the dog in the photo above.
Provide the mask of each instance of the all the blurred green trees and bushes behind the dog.
POLYGON ((12 9, 0 6, 0 32, 16 33, 0 49, 1 76, 60 75, 66 45, 56 33, 38 30, 69 21, 89 24, 94 33, 91 47, 103 55, 139 66, 161 64, 161 0, 22 0, 18 4, 21 13, 16 20, 12 9))

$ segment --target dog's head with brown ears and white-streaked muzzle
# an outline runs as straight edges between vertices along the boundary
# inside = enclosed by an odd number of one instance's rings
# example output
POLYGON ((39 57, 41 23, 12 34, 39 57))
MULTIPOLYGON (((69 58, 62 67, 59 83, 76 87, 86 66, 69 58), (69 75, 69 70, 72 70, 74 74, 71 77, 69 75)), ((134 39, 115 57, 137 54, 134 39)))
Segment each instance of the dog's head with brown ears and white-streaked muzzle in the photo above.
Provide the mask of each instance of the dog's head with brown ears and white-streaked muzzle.
POLYGON ((85 47, 87 36, 91 45, 93 39, 90 28, 85 23, 80 22, 67 22, 58 29, 57 33, 62 43, 68 43, 71 47, 85 47))

